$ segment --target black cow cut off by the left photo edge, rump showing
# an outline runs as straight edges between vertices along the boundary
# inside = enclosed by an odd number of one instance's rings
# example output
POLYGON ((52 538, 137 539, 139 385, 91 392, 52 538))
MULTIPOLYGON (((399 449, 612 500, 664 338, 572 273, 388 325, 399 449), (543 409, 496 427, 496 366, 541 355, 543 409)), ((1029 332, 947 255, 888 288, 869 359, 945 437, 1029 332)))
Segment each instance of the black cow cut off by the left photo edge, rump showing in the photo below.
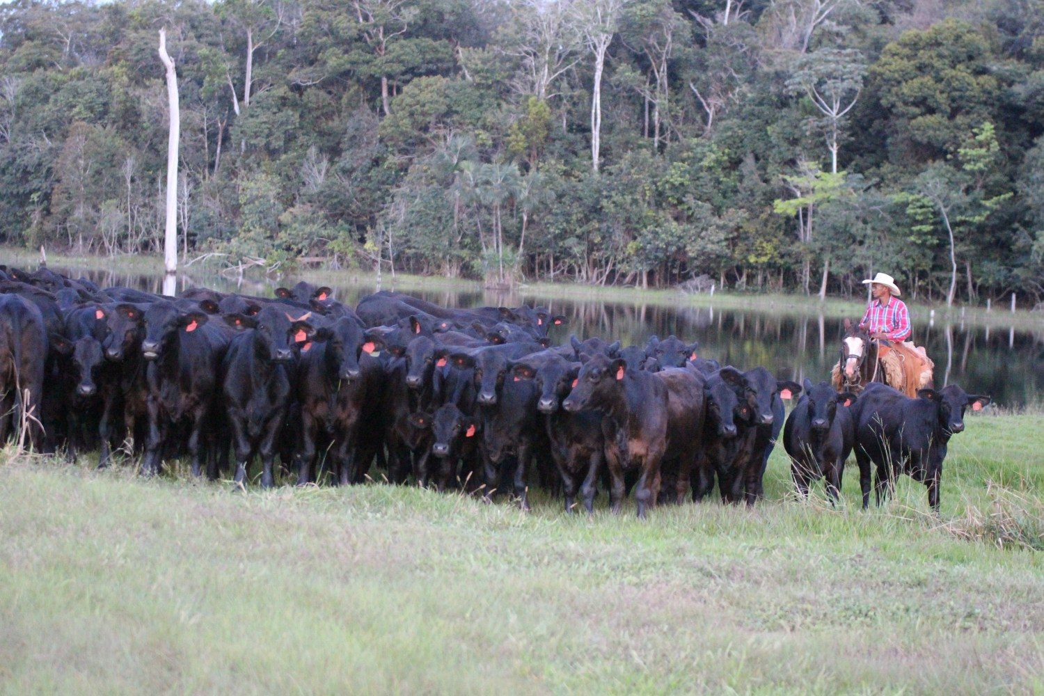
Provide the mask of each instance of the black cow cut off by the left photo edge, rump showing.
POLYGON ((40 406, 47 350, 40 309, 21 295, 0 295, 0 442, 24 424, 29 443, 43 443, 40 406))

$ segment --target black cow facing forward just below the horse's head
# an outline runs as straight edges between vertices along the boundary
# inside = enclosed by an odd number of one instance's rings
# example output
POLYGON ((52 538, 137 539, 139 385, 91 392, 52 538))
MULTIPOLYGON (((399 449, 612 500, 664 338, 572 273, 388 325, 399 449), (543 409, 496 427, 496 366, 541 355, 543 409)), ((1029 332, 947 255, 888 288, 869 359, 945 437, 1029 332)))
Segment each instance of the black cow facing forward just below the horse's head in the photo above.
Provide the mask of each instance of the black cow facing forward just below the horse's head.
MULTIPOLYGON (((826 478, 827 495, 833 505, 841 488, 841 473, 855 445, 855 422, 848 408, 855 394, 837 393, 829 382, 816 385, 805 379, 805 392, 790 412, 783 429, 783 448, 790 455, 790 473, 802 498, 808 497, 811 481, 826 478)), ((870 503, 870 472, 860 478, 862 506, 870 503)))

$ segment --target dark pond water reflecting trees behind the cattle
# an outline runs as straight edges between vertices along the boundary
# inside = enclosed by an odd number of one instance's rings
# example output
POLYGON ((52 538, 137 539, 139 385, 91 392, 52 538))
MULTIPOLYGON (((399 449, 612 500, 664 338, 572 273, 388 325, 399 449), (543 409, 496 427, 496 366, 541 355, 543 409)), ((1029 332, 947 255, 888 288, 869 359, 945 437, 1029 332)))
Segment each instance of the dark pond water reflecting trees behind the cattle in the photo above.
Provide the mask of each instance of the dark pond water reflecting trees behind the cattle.
MULTIPOLYGON (((161 278, 79 268, 58 269, 71 275, 86 275, 101 286, 123 285, 159 292, 161 278)), ((385 277, 385 289, 401 289, 385 277)), ((221 291, 271 296, 284 283, 258 279, 236 281, 220 274, 193 274, 179 279, 179 291, 200 285, 221 291)), ((292 283, 291 283, 292 284, 292 283)), ((335 297, 354 306, 358 298, 373 292, 373 283, 353 282, 345 273, 343 282, 328 281, 335 297)), ((474 288, 474 286, 472 286, 474 288)), ((569 318, 566 327, 552 330, 559 342, 601 336, 619 339, 624 345, 644 345, 649 335, 665 338, 674 334, 687 341, 699 341, 699 354, 721 364, 748 369, 764 365, 780 378, 813 382, 829 379, 830 367, 840 351, 843 320, 815 313, 786 313, 777 309, 693 308, 594 299, 542 298, 529 292, 523 298, 504 296, 477 289, 421 290, 410 294, 445 307, 480 305, 541 304, 555 314, 569 318)), ((856 319, 858 317, 853 317, 856 319)), ((986 393, 1005 407, 1044 404, 1044 320, 1036 329, 987 328, 969 323, 923 321, 915 318, 914 339, 925 345, 935 361, 935 385, 957 383, 971 393, 986 393)))

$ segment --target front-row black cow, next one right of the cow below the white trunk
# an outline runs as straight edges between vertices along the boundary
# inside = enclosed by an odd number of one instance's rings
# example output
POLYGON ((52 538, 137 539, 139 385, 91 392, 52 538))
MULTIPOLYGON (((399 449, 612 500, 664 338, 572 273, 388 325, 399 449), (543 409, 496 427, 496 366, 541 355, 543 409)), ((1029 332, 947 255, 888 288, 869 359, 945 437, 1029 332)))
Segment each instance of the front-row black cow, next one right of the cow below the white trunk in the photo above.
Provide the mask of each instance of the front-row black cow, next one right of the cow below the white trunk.
POLYGON ((295 343, 315 335, 309 313, 291 314, 285 306, 268 305, 256 316, 228 315, 246 331, 235 336, 221 362, 221 390, 232 426, 236 456, 234 481, 245 484, 255 453, 261 456, 261 486, 275 484, 272 462, 284 435, 292 398, 290 362, 295 343))

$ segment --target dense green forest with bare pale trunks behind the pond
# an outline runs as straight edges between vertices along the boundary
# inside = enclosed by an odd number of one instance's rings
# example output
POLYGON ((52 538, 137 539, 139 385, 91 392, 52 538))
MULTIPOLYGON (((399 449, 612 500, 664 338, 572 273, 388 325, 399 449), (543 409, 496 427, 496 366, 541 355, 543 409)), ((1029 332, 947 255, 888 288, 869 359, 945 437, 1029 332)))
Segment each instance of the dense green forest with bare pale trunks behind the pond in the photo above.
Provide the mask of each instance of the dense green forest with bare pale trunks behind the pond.
POLYGON ((0 242, 1044 299, 1044 2, 0 6, 0 242))

